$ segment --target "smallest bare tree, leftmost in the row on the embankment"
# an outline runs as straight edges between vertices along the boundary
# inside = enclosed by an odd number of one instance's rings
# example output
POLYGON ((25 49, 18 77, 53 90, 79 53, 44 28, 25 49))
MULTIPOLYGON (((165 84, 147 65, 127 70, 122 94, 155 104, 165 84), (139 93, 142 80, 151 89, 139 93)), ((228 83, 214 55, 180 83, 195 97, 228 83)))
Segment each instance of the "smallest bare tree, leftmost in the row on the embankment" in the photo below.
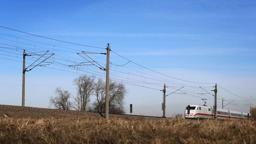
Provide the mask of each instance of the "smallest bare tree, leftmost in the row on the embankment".
POLYGON ((67 90, 62 90, 60 87, 54 90, 56 96, 50 97, 50 104, 54 105, 55 108, 60 110, 70 110, 72 103, 70 102, 70 92, 67 90))

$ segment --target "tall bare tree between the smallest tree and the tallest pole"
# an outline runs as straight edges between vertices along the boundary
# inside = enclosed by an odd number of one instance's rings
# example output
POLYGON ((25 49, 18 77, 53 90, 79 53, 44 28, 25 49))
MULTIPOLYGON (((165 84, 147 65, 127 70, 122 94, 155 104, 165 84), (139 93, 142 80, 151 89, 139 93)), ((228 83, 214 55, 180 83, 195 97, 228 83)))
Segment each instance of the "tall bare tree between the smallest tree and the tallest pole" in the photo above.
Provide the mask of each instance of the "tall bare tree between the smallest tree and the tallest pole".
POLYGON ((76 110, 85 111, 88 108, 90 102, 90 96, 94 90, 94 76, 79 76, 74 79, 74 85, 76 86, 77 95, 74 97, 74 108, 76 110))

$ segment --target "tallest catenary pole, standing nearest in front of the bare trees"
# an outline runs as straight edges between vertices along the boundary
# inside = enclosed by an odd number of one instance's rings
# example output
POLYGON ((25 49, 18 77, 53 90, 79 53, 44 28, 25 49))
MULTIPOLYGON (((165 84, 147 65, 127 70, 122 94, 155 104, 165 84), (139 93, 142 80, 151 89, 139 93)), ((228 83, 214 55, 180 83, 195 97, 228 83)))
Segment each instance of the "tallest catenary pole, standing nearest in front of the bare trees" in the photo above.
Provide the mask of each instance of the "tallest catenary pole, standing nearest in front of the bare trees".
POLYGON ((105 100, 105 119, 108 120, 108 103, 109 103, 109 53, 110 46, 107 46, 107 64, 106 64, 106 100, 105 100))

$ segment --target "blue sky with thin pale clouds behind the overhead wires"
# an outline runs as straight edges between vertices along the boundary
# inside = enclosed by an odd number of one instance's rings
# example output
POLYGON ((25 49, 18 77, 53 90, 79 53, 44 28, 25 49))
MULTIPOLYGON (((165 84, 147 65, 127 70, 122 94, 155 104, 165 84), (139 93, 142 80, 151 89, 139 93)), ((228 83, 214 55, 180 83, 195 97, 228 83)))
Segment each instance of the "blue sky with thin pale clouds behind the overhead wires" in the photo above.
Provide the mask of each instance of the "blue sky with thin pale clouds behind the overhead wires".
MULTIPOLYGON (((238 104, 226 106, 228 109, 248 112, 248 104, 256 105, 256 101, 245 99, 256 98, 254 92, 256 84, 255 1, 0 0, 0 2, 1 26, 101 48, 105 48, 106 44, 110 43, 111 50, 146 68, 183 80, 217 83, 226 90, 244 97, 240 98, 218 88, 220 98, 236 100, 235 104, 238 104), (246 100, 251 101, 249 103, 246 100)), ((63 48, 55 46, 102 52, 102 49, 56 42, 4 28, 0 28, 0 33, 14 36, 0 35, 2 44, 30 49, 33 49, 31 45, 36 45, 34 50, 39 46, 47 47, 52 49, 51 52, 70 58, 70 60, 71 57, 81 59, 76 54, 79 51, 60 53, 57 50, 63 50, 63 48)), ((0 58, 1 104, 21 104, 22 63, 12 60, 22 60, 10 57, 10 55, 20 54, 19 51, 14 53, 0 52, 2 54, 0 56, 2 57, 0 58)), ((100 57, 104 58, 104 56, 100 57)), ((102 63, 105 62, 97 57, 94 58, 102 63)), ((110 54, 110 61, 116 65, 128 62, 114 53, 110 54)), ((194 86, 196 88, 185 87, 187 89, 184 89, 184 92, 209 98, 208 105, 213 104, 209 96, 197 94, 202 91, 199 86, 209 86, 207 84, 196 84, 166 77, 131 62, 125 66, 126 68, 112 65, 112 77, 119 76, 120 78, 121 76, 124 83, 127 83, 125 78, 130 81, 145 82, 140 83, 140 86, 126 84, 128 94, 125 104, 127 106, 130 103, 134 104, 134 114, 162 115, 162 92, 150 88, 162 89, 164 83, 172 86, 182 86, 182 84, 194 86), (124 70, 126 73, 118 73, 117 69, 124 70), (153 77, 157 77, 157 80, 150 79, 153 77)), ((58 68, 56 65, 49 67, 58 68)), ((75 72, 74 70, 65 72, 63 71, 65 68, 62 67, 59 69, 61 70, 36 67, 27 72, 26 106, 48 107, 49 96, 54 95, 53 90, 58 86, 70 90, 73 95, 76 94, 72 80, 79 74, 72 73, 75 72), (35 93, 38 94, 35 95, 35 93)), ((90 67, 90 70, 93 70, 95 74, 100 72, 94 67, 90 67)), ((80 73, 84 74, 84 72, 80 73)), ((104 76, 104 72, 100 73, 104 76)), ((175 89, 169 91, 173 90, 175 89)), ((187 94, 174 94, 166 99, 167 116, 182 113, 187 104, 202 104, 200 98, 187 94)), ((218 103, 218 106, 221 106, 221 103, 218 103)))

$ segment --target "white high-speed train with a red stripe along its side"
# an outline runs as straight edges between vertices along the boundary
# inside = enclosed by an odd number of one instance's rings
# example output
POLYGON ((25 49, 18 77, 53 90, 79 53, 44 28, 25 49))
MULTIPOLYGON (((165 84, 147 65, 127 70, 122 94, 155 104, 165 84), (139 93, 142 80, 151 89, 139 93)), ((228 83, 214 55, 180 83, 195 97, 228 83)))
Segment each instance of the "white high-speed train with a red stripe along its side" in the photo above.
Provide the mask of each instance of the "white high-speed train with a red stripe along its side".
MULTIPOLYGON (((184 117, 186 119, 201 119, 214 118, 214 112, 210 106, 188 105, 186 106, 184 117), (190 109, 188 112, 188 108, 190 109)), ((238 120, 238 119, 252 119, 251 115, 246 112, 236 112, 232 110, 217 108, 217 119, 223 120, 238 120)))

